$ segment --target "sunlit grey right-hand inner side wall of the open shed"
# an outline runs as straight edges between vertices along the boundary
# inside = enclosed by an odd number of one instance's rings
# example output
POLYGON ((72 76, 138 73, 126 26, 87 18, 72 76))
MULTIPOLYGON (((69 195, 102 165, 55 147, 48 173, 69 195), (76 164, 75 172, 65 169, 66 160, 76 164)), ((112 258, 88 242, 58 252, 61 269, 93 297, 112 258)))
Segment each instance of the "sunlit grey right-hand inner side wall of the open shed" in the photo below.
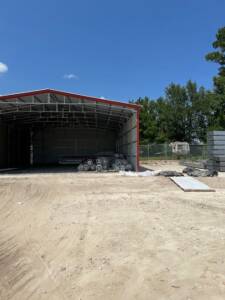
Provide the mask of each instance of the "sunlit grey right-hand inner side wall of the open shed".
POLYGON ((137 114, 124 124, 119 132, 117 140, 118 152, 127 156, 127 159, 132 164, 133 169, 137 170, 137 114))

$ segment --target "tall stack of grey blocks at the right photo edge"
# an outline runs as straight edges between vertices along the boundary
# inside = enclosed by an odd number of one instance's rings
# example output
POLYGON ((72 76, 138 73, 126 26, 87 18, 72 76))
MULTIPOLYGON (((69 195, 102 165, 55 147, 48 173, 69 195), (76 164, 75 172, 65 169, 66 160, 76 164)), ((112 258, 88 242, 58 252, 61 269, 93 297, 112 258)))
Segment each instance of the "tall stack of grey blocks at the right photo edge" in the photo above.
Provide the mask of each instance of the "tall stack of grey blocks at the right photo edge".
POLYGON ((210 131, 208 142, 208 168, 225 172, 225 131, 210 131))

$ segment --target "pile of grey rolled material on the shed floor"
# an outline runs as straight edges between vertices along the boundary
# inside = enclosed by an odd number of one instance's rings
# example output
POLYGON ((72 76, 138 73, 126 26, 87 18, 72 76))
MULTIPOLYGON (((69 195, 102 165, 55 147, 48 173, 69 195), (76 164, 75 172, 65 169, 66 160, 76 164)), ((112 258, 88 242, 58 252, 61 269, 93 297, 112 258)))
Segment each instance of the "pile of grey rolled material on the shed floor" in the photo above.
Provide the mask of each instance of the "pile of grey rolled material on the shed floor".
POLYGON ((81 171, 131 171, 132 165, 124 158, 122 154, 115 154, 113 157, 99 156, 96 159, 86 159, 79 164, 77 170, 81 171))

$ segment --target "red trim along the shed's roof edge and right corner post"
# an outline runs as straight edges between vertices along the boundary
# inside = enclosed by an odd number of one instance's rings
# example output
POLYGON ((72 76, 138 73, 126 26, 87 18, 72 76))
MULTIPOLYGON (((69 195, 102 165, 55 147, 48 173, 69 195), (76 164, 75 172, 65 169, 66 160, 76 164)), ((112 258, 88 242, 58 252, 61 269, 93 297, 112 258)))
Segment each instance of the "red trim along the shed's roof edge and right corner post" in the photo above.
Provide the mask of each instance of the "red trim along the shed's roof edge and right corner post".
POLYGON ((132 104, 132 103, 125 103, 125 102, 120 102, 116 100, 108 100, 108 99, 102 99, 102 98, 97 98, 97 97, 92 97, 92 96, 85 96, 85 95, 80 95, 80 94, 74 94, 74 93, 68 93, 64 91, 58 91, 58 90, 53 90, 53 89, 43 89, 43 90, 35 90, 35 91, 30 91, 30 92, 21 92, 21 93, 16 93, 16 94, 10 94, 10 95, 3 95, 0 96, 0 100, 9 100, 9 99, 16 99, 18 97, 26 97, 26 96, 35 96, 35 95, 40 95, 40 94, 46 94, 46 93, 55 93, 61 96, 65 97, 77 97, 80 99, 84 100, 91 100, 103 104, 110 104, 114 106, 120 106, 120 107, 127 107, 130 109, 134 109, 136 111, 136 136, 137 136, 137 141, 136 141, 136 155, 137 155, 137 165, 136 169, 139 171, 139 162, 140 162, 140 155, 139 155, 139 150, 140 150, 140 134, 139 134, 139 121, 140 121, 140 105, 137 104, 132 104))

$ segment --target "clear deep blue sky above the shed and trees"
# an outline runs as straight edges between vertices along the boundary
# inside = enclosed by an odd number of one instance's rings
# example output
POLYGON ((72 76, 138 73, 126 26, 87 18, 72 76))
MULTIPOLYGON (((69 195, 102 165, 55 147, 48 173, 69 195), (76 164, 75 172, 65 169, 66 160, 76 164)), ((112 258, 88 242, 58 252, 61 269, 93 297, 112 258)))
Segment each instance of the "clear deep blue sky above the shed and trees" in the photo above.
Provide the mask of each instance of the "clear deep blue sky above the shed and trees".
POLYGON ((1 1, 0 94, 53 88, 118 100, 207 88, 224 0, 1 1), (5 69, 4 69, 5 67, 5 69))

